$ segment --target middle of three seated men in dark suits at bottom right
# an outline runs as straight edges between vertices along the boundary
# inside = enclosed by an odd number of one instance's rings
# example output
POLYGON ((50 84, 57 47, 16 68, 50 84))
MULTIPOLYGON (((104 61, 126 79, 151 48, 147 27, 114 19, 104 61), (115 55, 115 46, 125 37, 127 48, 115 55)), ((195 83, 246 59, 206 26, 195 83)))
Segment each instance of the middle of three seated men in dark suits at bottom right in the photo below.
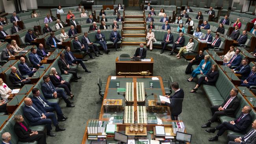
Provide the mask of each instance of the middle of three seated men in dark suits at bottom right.
POLYGON ((219 130, 217 135, 213 138, 209 138, 210 142, 218 140, 218 138, 226 131, 231 130, 237 133, 245 134, 246 129, 250 126, 252 122, 252 116, 250 115, 252 108, 249 105, 245 105, 242 109, 242 113, 234 120, 230 122, 223 122, 214 129, 205 129, 208 133, 215 133, 216 130, 219 130))

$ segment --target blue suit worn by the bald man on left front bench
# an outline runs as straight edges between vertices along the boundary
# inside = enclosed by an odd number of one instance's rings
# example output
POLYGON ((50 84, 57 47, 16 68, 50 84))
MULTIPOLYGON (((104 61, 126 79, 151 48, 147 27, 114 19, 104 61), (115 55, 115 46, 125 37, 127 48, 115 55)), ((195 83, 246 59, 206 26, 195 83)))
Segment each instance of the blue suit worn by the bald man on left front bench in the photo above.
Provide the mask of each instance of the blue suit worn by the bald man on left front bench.
POLYGON ((46 129, 47 132, 50 132, 52 129, 52 123, 54 126, 58 125, 58 121, 55 117, 54 113, 46 113, 46 111, 41 111, 35 104, 32 103, 31 105, 36 111, 34 111, 31 107, 28 107, 25 105, 23 107, 23 114, 25 117, 28 119, 29 123, 31 126, 38 126, 38 125, 43 125, 46 124, 46 129), (40 114, 39 114, 40 113, 40 114), (42 114, 45 114, 46 119, 41 119, 42 114))

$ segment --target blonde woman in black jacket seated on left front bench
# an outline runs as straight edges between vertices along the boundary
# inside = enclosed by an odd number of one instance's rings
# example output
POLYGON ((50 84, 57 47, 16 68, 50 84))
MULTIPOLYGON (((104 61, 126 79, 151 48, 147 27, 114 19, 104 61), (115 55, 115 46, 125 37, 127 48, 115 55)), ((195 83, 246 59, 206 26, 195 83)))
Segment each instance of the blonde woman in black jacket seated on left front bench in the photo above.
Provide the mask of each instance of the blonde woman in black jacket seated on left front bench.
POLYGON ((56 68, 51 68, 50 70, 50 79, 54 87, 61 87, 67 92, 70 98, 74 98, 74 95, 71 92, 70 84, 67 81, 63 81, 62 77, 56 71, 56 68))

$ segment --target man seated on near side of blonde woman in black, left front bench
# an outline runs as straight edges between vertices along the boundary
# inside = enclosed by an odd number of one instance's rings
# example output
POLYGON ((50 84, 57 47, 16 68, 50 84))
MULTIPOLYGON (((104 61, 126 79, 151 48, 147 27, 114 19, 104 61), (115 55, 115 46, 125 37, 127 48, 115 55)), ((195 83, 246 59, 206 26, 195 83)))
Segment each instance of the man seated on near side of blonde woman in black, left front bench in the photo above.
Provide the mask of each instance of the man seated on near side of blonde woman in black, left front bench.
POLYGON ((73 102, 69 101, 65 91, 63 89, 56 89, 52 82, 50 81, 50 77, 48 75, 43 76, 44 82, 41 85, 41 90, 46 99, 54 99, 62 97, 66 103, 67 107, 74 107, 73 102))

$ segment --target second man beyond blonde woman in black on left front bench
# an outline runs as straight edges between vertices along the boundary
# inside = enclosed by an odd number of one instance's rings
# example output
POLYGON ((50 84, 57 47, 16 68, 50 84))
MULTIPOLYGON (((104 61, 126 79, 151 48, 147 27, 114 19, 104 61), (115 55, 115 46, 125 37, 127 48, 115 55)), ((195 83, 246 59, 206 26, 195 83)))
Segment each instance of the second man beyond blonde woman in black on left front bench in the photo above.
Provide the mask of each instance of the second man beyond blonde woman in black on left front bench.
POLYGON ((85 72, 90 72, 89 70, 87 70, 85 64, 83 63, 82 59, 77 59, 73 53, 70 51, 69 46, 66 46, 66 52, 65 52, 65 60, 67 61, 67 63, 69 65, 81 65, 82 68, 85 70, 85 72))

